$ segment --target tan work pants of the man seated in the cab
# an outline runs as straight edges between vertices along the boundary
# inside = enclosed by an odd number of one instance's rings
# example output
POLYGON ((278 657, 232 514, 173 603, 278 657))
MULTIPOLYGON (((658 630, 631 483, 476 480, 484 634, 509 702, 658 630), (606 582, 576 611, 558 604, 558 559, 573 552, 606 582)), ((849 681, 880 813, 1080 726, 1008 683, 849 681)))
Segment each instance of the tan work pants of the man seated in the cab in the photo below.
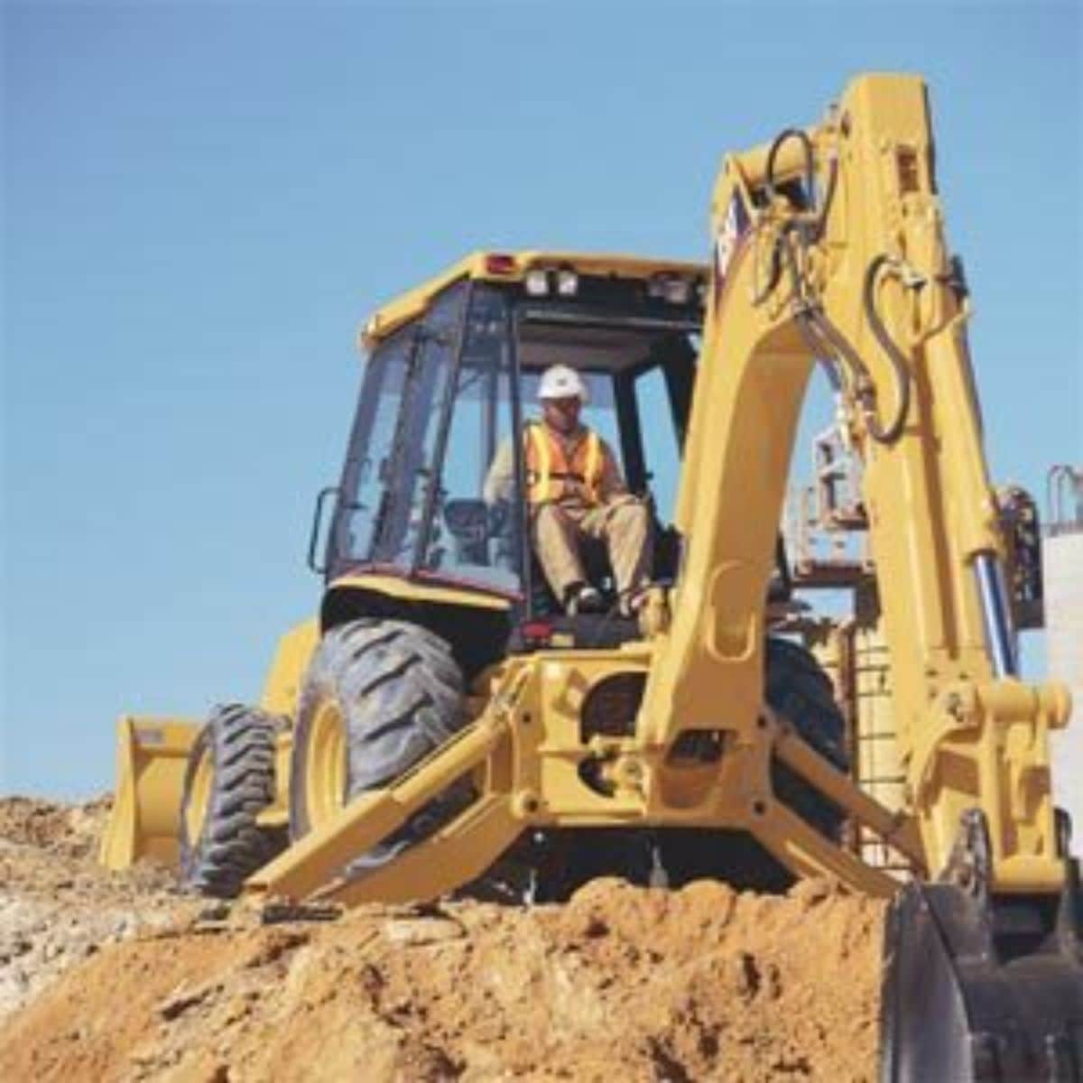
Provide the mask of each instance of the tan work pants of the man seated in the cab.
POLYGON ((654 559, 651 513, 635 497, 611 500, 598 508, 543 504, 533 511, 531 524, 534 551, 561 603, 573 583, 587 582, 579 556, 583 538, 605 544, 619 595, 634 591, 650 579, 654 559))

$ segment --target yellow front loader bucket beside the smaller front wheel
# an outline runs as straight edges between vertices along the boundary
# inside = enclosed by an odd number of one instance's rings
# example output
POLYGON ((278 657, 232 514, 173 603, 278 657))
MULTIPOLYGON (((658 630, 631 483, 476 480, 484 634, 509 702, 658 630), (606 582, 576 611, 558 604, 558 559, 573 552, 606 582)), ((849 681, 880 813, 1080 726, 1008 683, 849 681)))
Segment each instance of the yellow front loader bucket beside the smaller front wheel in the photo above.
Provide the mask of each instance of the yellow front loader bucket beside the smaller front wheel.
POLYGON ((127 869, 140 858, 175 864, 188 749, 200 722, 125 716, 117 723, 117 785, 99 861, 127 869))

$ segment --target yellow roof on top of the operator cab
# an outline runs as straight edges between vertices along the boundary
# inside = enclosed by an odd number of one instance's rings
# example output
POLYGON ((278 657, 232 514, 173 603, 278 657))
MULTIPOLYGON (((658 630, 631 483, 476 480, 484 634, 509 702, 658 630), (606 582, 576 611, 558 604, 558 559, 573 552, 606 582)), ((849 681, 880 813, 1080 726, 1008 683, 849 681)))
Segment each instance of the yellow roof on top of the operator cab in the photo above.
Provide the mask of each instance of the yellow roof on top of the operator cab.
POLYGON ((522 282, 534 268, 570 268, 580 275, 613 278, 649 278, 656 274, 706 276, 707 266, 681 260, 656 260, 641 256, 606 256, 598 252, 477 251, 453 264, 443 274, 389 301, 369 317, 357 335, 362 349, 381 339, 428 309, 432 298, 458 278, 482 282, 522 282))

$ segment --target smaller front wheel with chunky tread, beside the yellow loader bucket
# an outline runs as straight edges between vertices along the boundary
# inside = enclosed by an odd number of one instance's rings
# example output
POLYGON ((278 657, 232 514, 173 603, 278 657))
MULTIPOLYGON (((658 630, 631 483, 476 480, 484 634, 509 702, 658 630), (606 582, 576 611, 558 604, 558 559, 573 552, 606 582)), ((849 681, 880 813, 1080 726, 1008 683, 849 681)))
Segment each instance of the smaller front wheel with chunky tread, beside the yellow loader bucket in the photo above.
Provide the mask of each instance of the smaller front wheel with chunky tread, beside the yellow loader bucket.
POLYGON ((181 882, 230 899, 285 845, 257 822, 275 796, 275 719, 240 704, 216 707, 188 753, 179 824, 181 882))

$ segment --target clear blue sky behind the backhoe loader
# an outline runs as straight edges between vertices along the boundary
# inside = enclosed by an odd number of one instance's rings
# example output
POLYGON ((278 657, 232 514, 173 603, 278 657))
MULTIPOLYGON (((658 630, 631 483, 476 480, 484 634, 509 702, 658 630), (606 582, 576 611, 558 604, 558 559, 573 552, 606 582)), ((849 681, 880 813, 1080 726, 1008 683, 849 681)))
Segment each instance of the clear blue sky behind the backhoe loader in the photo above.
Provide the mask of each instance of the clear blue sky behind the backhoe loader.
MULTIPOLYGON (((255 700, 353 334, 479 247, 705 258, 723 152, 930 83, 999 480, 1083 460, 1078 3, 5 3, 0 793, 255 700)), ((799 453, 800 454, 800 453, 799 453)))

